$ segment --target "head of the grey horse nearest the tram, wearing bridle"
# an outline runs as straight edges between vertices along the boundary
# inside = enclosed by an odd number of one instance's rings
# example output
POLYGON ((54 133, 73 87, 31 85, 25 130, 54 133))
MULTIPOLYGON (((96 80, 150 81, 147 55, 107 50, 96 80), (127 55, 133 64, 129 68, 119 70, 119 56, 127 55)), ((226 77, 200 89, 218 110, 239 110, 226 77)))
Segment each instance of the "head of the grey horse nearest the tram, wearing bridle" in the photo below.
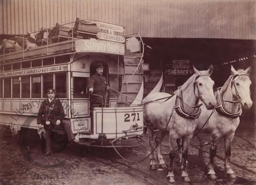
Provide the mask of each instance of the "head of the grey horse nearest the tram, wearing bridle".
POLYGON ((199 71, 193 66, 195 80, 194 80, 194 93, 197 98, 202 101, 207 109, 214 109, 217 102, 213 92, 214 81, 211 79, 213 66, 206 71, 199 71))

